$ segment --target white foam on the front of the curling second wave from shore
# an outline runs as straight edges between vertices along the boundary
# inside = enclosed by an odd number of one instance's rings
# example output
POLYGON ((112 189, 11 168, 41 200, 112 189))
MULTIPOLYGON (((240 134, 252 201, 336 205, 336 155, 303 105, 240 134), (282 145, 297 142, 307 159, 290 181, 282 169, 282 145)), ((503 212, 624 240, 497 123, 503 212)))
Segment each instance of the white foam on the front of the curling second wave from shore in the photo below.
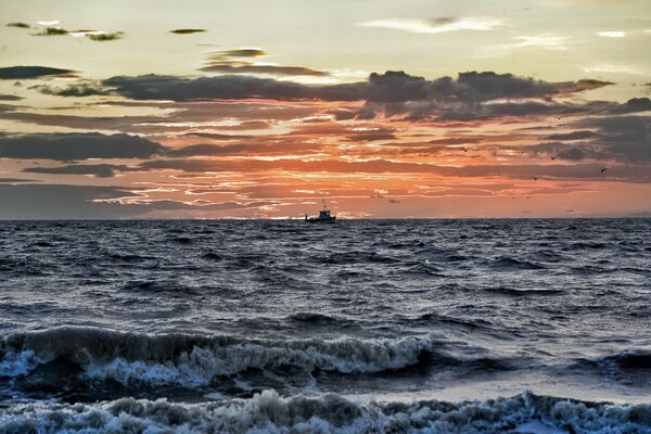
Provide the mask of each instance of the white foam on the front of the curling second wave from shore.
POLYGON ((91 360, 86 375, 112 379, 123 384, 142 381, 152 385, 199 386, 219 375, 233 375, 247 369, 282 366, 342 373, 380 372, 418 362, 422 350, 432 349, 427 339, 243 342, 215 347, 194 347, 173 360, 143 361, 117 357, 91 360))

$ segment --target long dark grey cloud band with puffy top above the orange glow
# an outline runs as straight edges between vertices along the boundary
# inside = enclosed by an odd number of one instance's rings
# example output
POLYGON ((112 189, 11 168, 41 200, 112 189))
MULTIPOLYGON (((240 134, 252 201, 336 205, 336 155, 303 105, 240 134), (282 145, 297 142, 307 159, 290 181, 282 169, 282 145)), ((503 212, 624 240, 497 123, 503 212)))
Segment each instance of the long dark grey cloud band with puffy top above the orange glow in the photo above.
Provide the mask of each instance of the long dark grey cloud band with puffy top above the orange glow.
POLYGON ((403 103, 408 101, 447 101, 477 103, 496 99, 548 98, 597 89, 612 82, 578 80, 549 82, 512 74, 493 72, 460 73, 457 79, 441 77, 427 80, 401 71, 373 73, 367 81, 306 86, 271 78, 225 75, 184 78, 143 75, 105 79, 102 86, 133 100, 322 100, 403 103))

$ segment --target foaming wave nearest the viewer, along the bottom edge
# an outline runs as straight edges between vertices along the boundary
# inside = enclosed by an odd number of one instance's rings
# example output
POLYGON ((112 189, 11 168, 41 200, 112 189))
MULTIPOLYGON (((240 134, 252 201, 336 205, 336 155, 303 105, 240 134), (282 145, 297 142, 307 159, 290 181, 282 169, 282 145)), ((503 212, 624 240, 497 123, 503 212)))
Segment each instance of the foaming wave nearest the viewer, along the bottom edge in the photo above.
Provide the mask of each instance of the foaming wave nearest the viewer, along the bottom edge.
POLYGON ((411 404, 358 403, 340 395, 179 404, 122 398, 93 405, 23 404, 0 431, 229 433, 651 433, 651 405, 613 405, 524 392, 510 398, 411 404))

